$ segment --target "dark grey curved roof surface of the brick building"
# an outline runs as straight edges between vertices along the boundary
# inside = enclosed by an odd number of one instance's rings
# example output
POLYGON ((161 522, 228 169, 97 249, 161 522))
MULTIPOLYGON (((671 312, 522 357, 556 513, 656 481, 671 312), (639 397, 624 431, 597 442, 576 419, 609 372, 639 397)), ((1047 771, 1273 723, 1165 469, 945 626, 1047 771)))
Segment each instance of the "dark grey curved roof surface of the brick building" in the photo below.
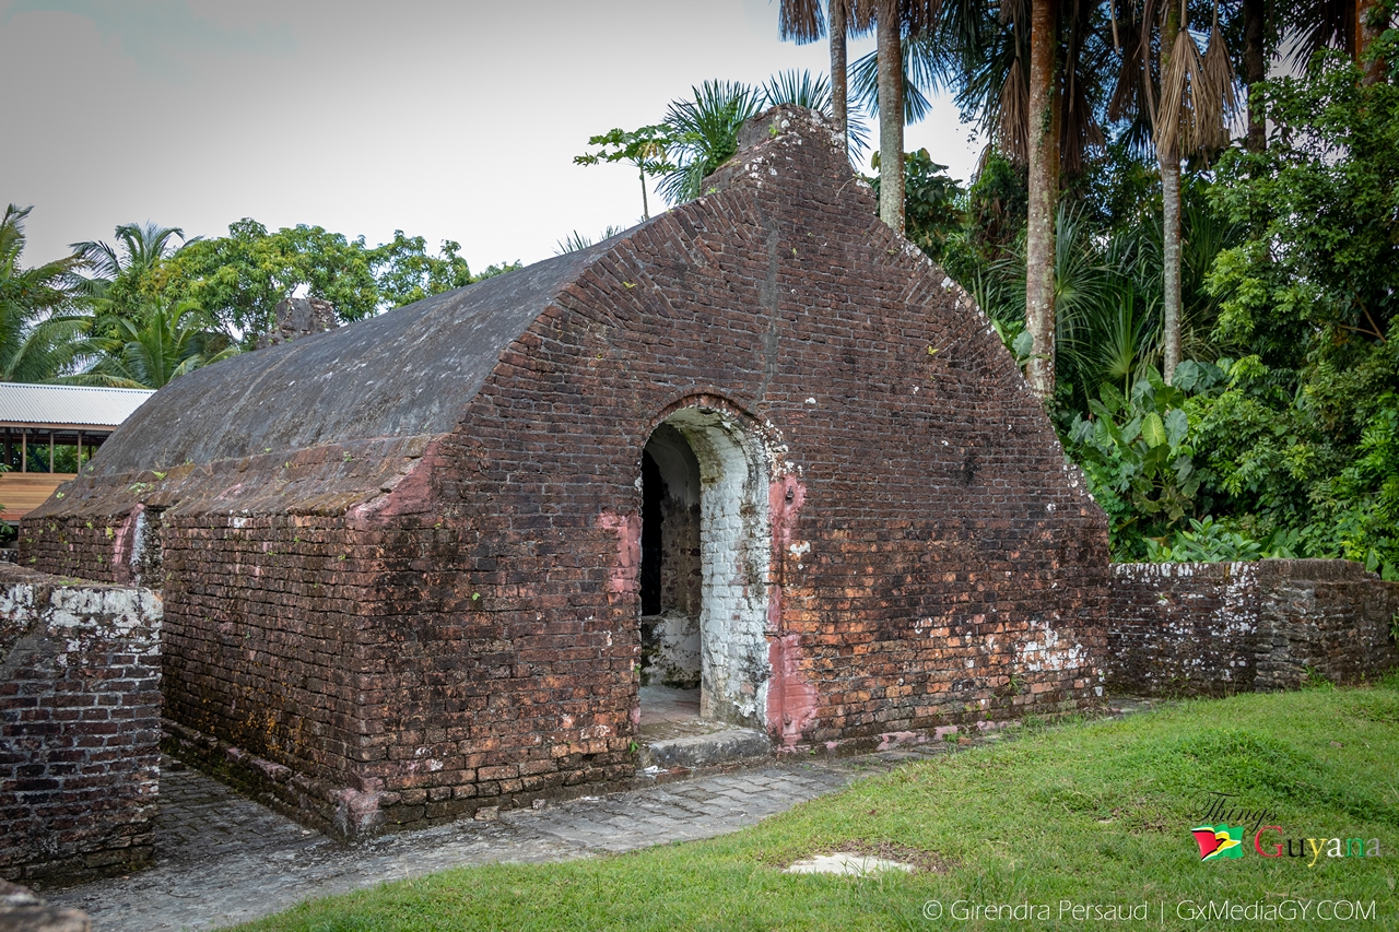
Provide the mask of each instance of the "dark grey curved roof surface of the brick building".
POLYGON ((446 434, 501 351, 614 242, 175 379, 102 445, 95 474, 446 434))

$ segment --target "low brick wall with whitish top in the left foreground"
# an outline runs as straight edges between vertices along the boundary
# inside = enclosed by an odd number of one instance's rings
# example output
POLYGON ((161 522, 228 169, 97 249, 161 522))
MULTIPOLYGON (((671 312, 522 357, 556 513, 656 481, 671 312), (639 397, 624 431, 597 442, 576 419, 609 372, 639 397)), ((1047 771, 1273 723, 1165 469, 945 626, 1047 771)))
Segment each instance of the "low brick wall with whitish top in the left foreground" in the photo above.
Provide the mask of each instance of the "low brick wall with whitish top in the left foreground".
POLYGON ((151 859, 161 599, 0 564, 0 877, 151 859))

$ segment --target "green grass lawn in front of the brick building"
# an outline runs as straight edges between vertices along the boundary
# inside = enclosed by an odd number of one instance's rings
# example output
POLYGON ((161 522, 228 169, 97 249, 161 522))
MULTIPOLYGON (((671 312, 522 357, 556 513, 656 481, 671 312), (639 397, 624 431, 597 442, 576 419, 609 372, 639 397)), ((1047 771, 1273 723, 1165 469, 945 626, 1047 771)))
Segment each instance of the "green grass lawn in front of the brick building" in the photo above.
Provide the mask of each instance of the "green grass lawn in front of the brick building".
POLYGON ((1391 677, 1374 689, 1238 696, 1025 728, 1014 742, 863 779, 722 838, 448 870, 239 929, 1399 929, 1396 880, 1399 679, 1391 677), (1379 856, 1329 858, 1319 842, 1312 863, 1309 847, 1290 858, 1283 841, 1284 856, 1260 858, 1249 819, 1242 858, 1202 863, 1191 828, 1206 821, 1210 792, 1273 813, 1263 824, 1283 834, 1265 834, 1267 849, 1286 838, 1358 837, 1378 838, 1379 856), (865 879, 782 873, 813 854, 880 844, 933 869, 865 879), (1283 914, 1195 915, 1212 901, 1283 914), (1316 921, 1318 908, 1340 918, 1354 910, 1321 901, 1363 905, 1351 921, 1316 921), (1140 911, 1143 903, 1144 921, 1072 912, 1088 904, 1140 911), (1031 904, 1035 915, 975 918, 985 904, 1031 904), (925 908, 942 915, 928 918, 925 908), (1298 918, 1287 918, 1291 910, 1298 918))

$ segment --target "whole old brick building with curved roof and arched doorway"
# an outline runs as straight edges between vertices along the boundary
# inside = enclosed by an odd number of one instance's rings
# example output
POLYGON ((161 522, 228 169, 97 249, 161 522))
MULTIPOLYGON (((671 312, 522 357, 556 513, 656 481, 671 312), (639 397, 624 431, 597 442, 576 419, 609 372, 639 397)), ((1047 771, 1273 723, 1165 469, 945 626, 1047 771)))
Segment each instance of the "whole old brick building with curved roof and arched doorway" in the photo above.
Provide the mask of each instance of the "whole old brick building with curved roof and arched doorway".
MULTIPOLYGON (((1105 519, 972 299, 776 109, 589 249, 161 390, 21 560, 162 589, 165 714, 357 834, 1098 694, 1105 519)), ((220 750, 221 749, 221 750, 220 750)))

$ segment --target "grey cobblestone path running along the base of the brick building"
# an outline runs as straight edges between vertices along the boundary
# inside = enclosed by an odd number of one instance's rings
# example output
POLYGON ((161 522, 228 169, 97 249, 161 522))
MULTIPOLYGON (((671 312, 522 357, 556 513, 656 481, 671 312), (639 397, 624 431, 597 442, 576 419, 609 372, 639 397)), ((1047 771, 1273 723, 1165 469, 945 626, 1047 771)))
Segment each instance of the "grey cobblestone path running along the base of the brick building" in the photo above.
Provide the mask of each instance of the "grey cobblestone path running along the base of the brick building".
MULTIPOLYGON (((502 812, 346 845, 193 770, 164 768, 148 870, 45 897, 85 910, 94 932, 175 932, 245 922, 311 897, 490 862, 541 862, 734 831, 832 792, 907 754, 781 764, 502 812)), ((176 765, 178 767, 178 765, 176 765)))

